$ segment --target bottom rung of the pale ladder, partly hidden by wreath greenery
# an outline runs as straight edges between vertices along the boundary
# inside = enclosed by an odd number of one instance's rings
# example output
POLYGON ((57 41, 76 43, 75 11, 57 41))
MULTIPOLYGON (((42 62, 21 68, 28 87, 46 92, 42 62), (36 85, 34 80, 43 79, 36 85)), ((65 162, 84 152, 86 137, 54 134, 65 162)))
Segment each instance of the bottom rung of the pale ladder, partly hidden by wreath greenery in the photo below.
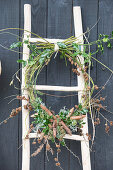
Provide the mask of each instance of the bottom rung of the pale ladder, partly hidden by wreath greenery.
MULTIPOLYGON (((40 135, 37 134, 37 133, 30 133, 30 134, 29 134, 29 138, 38 138, 38 137, 40 137, 40 135)), ((66 135, 64 136, 64 139, 71 139, 71 140, 83 141, 83 140, 84 140, 84 137, 83 137, 83 136, 80 136, 80 135, 72 135, 72 136, 70 136, 70 135, 66 134, 66 135)))

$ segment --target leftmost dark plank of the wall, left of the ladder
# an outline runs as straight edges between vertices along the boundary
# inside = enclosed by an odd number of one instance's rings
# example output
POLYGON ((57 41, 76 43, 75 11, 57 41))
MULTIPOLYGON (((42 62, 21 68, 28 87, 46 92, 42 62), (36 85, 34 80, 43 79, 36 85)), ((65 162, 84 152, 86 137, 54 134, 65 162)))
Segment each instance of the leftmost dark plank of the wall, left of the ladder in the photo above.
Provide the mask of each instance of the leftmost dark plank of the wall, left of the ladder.
MULTIPOLYGON (((19 27, 19 0, 0 2, 0 29, 19 27)), ((18 35, 18 30, 10 31, 18 35)), ((0 35, 0 44, 9 48, 16 41, 9 34, 0 35)), ((17 49, 18 50, 18 49, 17 49)), ((19 69, 16 60, 18 53, 0 47, 0 60, 2 61, 2 75, 0 76, 0 122, 6 119, 13 108, 18 107, 18 101, 8 105, 11 98, 6 96, 18 94, 19 90, 9 86, 12 75, 19 69)), ((17 87, 18 83, 15 84, 17 87)), ((13 98, 13 97, 12 97, 13 98)), ((18 170, 18 116, 0 126, 0 170, 18 170)))

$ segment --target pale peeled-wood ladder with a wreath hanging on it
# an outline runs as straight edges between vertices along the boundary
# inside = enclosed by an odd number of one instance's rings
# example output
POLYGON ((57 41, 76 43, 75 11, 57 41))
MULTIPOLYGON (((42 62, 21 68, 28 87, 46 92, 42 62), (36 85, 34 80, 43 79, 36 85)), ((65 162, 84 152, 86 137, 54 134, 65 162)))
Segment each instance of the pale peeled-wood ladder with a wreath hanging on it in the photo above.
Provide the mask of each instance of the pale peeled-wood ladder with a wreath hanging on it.
MULTIPOLYGON (((74 28, 75 29, 75 36, 79 37, 79 41, 83 43, 83 29, 82 29, 82 17, 81 17, 81 8, 79 6, 73 7, 73 15, 74 15, 74 28)), ((31 5, 25 4, 24 5, 24 40, 28 39, 29 42, 37 42, 44 41, 42 39, 31 38, 31 5), (27 32, 27 31, 28 32, 27 32)), ((61 39, 47 39, 50 43, 57 43, 62 42, 61 39)), ((83 46, 81 46, 81 50, 83 50, 83 46)), ((26 44, 23 44, 23 60, 27 60, 29 58, 29 48, 26 44)), ((84 63, 83 57, 79 56, 81 63, 84 63)), ((22 69, 22 89, 25 87, 25 70, 26 68, 22 69)), ((77 76, 78 86, 76 87, 63 87, 63 86, 46 86, 46 85, 36 85, 37 90, 52 90, 52 91, 78 91, 78 102, 81 102, 82 93, 81 90, 84 89, 84 78, 82 72, 80 76, 77 76)), ((22 95, 26 98, 28 97, 28 91, 22 90, 22 95)), ((22 170, 30 170, 30 138, 37 137, 37 134, 30 133, 29 139, 26 139, 26 135, 29 130, 29 111, 24 109, 24 105, 27 104, 27 101, 22 100, 22 170)), ((84 126, 82 128, 83 136, 79 135, 65 135, 65 139, 70 140, 77 140, 81 141, 81 154, 82 154, 82 165, 83 170, 91 170, 90 164, 90 150, 89 150, 89 141, 86 133, 88 133, 88 121, 87 115, 84 118, 84 126)))

